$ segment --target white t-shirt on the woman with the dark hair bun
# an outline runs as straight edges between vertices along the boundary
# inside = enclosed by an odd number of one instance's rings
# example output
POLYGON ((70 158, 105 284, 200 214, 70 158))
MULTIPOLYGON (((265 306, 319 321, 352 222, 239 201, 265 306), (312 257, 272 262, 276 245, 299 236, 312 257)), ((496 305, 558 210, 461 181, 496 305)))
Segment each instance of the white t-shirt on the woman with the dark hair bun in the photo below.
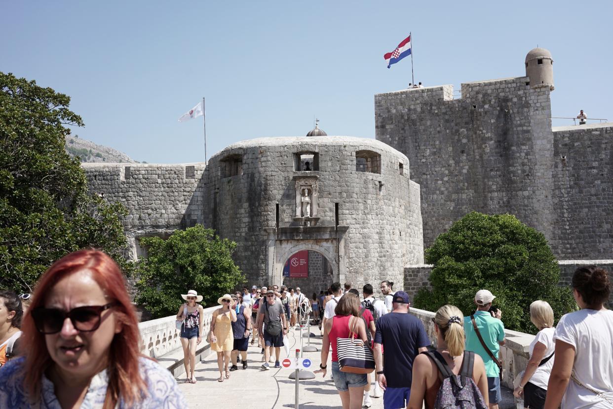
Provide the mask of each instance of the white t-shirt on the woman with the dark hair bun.
MULTIPOLYGON (((586 308, 563 315, 554 340, 573 345, 577 380, 613 399, 613 311, 586 308)), ((611 409, 611 403, 571 379, 562 399, 562 409, 570 408, 611 409)))

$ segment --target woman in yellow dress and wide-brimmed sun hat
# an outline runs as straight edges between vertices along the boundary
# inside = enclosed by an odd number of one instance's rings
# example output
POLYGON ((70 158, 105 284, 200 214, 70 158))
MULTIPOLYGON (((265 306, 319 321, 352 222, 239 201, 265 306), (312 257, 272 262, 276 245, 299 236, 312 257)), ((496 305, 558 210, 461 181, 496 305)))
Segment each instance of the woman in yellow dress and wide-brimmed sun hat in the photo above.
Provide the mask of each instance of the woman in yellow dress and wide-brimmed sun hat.
POLYGON ((234 349, 234 334, 232 333, 232 324, 236 322, 236 313, 230 308, 232 297, 230 294, 224 294, 217 300, 221 304, 213 312, 211 319, 211 331, 208 333, 211 350, 217 353, 217 367, 219 368, 219 382, 224 381, 223 371, 226 371, 226 379, 230 378, 228 364, 230 362, 230 353, 234 349))

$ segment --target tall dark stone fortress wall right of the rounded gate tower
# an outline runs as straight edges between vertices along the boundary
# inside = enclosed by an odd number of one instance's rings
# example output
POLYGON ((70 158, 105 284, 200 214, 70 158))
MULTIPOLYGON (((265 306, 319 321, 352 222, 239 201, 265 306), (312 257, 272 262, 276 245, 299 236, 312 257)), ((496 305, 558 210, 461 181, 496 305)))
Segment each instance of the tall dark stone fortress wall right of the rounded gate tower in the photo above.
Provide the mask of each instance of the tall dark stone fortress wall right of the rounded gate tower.
POLYGON ((459 99, 451 85, 375 96, 376 138, 409 158, 421 186, 424 247, 476 210, 516 215, 558 259, 613 258, 613 124, 552 129, 553 85, 542 83, 464 83, 459 99))

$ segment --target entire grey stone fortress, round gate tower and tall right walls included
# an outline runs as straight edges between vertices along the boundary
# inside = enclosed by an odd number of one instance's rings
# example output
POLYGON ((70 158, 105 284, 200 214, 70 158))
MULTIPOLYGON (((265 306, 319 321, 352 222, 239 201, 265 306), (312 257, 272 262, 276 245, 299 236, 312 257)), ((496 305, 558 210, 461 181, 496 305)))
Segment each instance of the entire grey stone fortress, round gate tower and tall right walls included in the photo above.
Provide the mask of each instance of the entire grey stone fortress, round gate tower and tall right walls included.
MULTIPOLYGON (((281 283, 287 258, 314 250, 333 280, 360 289, 386 279, 414 294, 428 285, 424 246, 476 210, 543 232, 565 283, 565 262, 613 259, 613 124, 552 129, 552 64, 536 48, 527 76, 464 83, 456 99, 451 85, 377 94, 376 140, 316 127, 234 143, 206 166, 83 167, 91 191, 128 208, 132 258, 145 254, 139 237, 198 223, 237 242, 249 284, 281 283), (308 217, 299 186, 311 189, 308 217)), ((286 279, 305 294, 333 280, 286 279)))

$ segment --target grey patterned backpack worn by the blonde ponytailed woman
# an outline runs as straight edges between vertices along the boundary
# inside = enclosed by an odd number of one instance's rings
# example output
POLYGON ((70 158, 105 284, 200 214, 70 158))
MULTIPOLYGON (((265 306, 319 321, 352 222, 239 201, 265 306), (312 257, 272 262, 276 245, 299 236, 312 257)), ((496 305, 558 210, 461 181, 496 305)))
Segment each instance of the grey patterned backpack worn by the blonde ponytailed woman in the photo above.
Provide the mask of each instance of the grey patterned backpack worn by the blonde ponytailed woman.
POLYGON ((436 364, 443 383, 436 393, 435 409, 487 409, 481 391, 473 380, 474 352, 464 351, 462 370, 454 375, 438 351, 422 352, 436 364))

